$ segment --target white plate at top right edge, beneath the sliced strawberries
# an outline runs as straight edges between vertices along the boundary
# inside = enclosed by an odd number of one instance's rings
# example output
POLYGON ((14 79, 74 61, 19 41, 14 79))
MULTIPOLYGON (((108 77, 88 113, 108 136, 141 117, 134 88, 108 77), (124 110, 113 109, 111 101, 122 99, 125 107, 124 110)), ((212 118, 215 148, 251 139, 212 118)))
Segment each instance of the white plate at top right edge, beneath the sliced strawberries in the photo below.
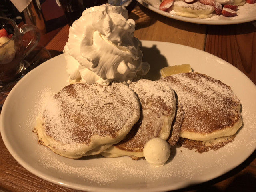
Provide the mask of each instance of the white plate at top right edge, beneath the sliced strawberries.
POLYGON ((238 24, 245 23, 249 21, 256 20, 256 4, 244 4, 240 6, 237 10, 237 16, 235 17, 224 17, 222 15, 217 16, 214 15, 211 18, 201 19, 201 18, 190 18, 190 17, 182 17, 176 15, 174 12, 168 13, 161 11, 159 9, 159 5, 161 0, 137 0, 140 4, 145 6, 146 8, 164 15, 166 17, 170 17, 180 21, 186 21, 190 23, 198 23, 198 24, 208 24, 208 25, 229 25, 229 24, 238 24))

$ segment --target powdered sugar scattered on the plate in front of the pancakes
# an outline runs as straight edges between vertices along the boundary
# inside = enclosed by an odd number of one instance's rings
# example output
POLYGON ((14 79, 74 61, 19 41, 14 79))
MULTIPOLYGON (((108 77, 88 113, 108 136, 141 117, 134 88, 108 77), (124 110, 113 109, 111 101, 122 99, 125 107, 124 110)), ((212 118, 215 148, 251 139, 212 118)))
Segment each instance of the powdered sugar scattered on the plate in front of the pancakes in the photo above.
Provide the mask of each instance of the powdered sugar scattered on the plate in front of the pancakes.
POLYGON ((230 166, 230 159, 236 156, 238 146, 242 143, 246 147, 249 146, 244 140, 236 138, 224 148, 205 152, 200 156, 192 150, 174 146, 171 148, 167 164, 158 168, 148 164, 144 159, 135 161, 129 157, 95 156, 94 159, 92 156, 90 159, 70 160, 51 154, 50 150, 45 150, 46 148, 40 150, 38 155, 42 156, 40 164, 47 170, 60 172, 64 181, 70 177, 77 177, 80 182, 85 182, 85 185, 92 183, 103 188, 113 183, 133 183, 132 187, 155 182, 175 185, 175 182, 182 183, 208 176, 208 170, 215 169, 216 166, 224 171, 230 166))

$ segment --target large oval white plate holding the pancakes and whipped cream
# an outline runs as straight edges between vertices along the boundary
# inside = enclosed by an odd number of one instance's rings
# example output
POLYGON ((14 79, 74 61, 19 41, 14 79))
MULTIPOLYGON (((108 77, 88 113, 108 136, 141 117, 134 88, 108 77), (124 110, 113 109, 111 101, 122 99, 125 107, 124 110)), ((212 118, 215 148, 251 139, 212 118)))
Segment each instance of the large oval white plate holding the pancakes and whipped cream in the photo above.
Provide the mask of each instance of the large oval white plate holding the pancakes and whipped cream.
POLYGON ((194 71, 222 80, 231 86, 242 103, 244 126, 234 142, 218 151, 202 154, 172 147, 168 163, 156 168, 145 160, 129 157, 89 156, 72 160, 54 154, 37 143, 32 132, 36 122, 38 95, 45 88, 60 90, 67 85, 66 62, 56 56, 28 73, 8 95, 0 128, 12 156, 33 174, 62 186, 88 191, 167 191, 216 178, 241 164, 256 148, 256 86, 224 60, 187 46, 142 41, 144 61, 151 65, 148 77, 161 77, 160 69, 191 64, 194 71), (186 53, 186 56, 184 56, 186 53))

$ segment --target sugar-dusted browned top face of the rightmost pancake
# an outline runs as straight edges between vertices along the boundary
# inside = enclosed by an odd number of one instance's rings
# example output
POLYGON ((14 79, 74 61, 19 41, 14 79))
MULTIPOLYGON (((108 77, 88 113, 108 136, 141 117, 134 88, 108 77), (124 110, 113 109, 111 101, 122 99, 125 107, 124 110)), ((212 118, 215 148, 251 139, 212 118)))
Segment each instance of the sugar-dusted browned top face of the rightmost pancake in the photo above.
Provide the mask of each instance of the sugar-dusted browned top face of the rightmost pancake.
POLYGON ((198 73, 175 74, 168 82, 184 109, 181 130, 209 134, 234 126, 240 119, 240 101, 229 86, 198 73))

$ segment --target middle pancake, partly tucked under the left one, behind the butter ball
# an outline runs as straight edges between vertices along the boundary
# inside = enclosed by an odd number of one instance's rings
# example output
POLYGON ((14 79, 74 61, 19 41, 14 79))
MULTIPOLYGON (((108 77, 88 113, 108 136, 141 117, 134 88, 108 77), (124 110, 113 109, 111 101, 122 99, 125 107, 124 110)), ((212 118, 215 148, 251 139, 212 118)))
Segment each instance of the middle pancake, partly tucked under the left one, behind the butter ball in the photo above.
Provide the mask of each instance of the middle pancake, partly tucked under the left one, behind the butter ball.
POLYGON ((106 157, 143 157, 146 142, 159 137, 164 140, 170 136, 171 124, 175 116, 176 99, 168 84, 140 79, 129 87, 138 95, 141 103, 140 120, 133 126, 124 140, 102 153, 106 157))

